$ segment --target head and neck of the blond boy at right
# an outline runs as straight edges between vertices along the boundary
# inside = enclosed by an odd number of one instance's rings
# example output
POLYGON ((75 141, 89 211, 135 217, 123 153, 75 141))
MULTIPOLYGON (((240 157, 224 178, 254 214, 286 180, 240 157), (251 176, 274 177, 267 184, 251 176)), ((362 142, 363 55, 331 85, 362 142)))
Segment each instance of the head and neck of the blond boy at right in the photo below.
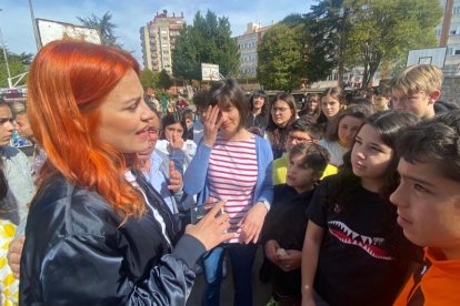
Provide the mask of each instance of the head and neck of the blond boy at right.
POLYGON ((438 101, 442 79, 442 70, 434 65, 408 67, 390 82, 392 109, 412 112, 420 119, 430 119, 440 112, 458 109, 454 104, 438 101))

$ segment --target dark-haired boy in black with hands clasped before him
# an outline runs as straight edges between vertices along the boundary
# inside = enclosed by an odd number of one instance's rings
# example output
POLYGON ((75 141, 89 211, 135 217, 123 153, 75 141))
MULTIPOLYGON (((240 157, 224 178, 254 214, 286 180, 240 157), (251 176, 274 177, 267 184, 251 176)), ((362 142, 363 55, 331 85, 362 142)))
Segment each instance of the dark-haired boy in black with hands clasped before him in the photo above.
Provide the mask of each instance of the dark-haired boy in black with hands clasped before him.
POLYGON ((300 305, 302 299, 300 263, 307 208, 328 163, 329 153, 324 147, 314 143, 297 144, 289 154, 287 183, 274 186, 262 239, 271 263, 272 295, 280 305, 300 305))

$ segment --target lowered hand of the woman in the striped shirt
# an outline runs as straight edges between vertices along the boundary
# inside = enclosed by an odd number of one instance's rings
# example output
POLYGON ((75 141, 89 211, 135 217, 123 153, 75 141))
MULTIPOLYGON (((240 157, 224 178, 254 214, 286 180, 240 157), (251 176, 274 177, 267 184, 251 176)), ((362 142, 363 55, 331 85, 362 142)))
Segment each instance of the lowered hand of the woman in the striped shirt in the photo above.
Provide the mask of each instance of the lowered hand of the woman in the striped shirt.
POLYGON ((246 213, 246 216, 238 223, 238 227, 241 230, 241 243, 249 244, 250 242, 258 242, 267 213, 267 207, 262 202, 256 203, 248 213, 246 213))

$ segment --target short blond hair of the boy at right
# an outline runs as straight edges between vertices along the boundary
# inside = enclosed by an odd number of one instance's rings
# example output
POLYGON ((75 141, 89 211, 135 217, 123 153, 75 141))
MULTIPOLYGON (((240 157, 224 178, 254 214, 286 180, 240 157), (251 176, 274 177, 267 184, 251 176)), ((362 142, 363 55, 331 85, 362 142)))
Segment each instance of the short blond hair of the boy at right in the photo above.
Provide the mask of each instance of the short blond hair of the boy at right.
POLYGON ((402 91, 406 95, 424 92, 427 94, 441 90, 442 70, 431 64, 417 64, 408 67, 390 82, 392 91, 402 91))

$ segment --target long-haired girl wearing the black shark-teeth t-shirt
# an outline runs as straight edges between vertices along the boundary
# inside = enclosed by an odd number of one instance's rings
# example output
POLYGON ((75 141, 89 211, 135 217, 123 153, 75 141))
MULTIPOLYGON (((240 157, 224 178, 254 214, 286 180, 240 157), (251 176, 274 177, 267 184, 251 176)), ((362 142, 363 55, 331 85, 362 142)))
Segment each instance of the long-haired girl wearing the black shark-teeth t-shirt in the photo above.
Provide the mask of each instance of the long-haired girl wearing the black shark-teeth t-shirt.
POLYGON ((356 137, 351 161, 318 187, 302 251, 302 305, 394 300, 416 251, 389 202, 398 186, 394 147, 398 135, 416 123, 409 112, 373 114, 356 137))

